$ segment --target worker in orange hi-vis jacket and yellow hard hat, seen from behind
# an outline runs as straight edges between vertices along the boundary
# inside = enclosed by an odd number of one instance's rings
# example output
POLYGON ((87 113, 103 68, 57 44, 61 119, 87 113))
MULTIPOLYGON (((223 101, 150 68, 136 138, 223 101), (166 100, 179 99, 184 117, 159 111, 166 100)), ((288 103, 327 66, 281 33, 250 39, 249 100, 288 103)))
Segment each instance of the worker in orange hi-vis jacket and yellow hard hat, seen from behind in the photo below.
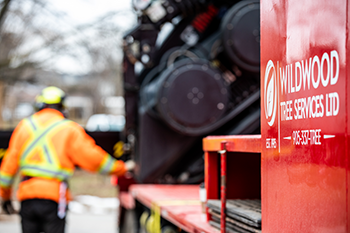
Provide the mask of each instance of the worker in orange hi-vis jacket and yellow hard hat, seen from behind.
POLYGON ((75 166, 103 174, 123 175, 134 161, 118 161, 95 144, 77 123, 63 115, 65 93, 47 87, 37 96, 38 112, 23 119, 13 131, 0 169, 2 209, 14 213, 11 204, 13 178, 19 171, 17 198, 21 202, 23 233, 63 233, 67 180, 75 166))

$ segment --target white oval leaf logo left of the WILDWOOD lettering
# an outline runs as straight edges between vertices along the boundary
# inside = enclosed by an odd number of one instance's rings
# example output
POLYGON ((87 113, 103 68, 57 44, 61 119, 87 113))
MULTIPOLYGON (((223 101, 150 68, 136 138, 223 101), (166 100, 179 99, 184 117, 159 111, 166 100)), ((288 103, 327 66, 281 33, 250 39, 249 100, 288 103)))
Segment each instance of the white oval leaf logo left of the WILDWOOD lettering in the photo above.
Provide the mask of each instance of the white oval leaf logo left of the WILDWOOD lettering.
POLYGON ((277 80, 273 62, 270 60, 265 70, 264 107, 267 124, 272 126, 277 112, 277 80))

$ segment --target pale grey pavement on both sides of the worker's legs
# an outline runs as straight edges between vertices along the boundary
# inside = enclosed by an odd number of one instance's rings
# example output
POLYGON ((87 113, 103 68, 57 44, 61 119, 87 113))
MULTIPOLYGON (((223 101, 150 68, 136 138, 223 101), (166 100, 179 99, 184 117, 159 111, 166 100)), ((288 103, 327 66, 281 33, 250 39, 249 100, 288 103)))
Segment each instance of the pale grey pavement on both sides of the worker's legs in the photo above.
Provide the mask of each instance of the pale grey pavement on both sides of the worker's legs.
MULTIPOLYGON (((115 209, 70 211, 67 215, 66 233, 117 233, 115 209)), ((18 215, 0 214, 1 233, 21 233, 18 215)))

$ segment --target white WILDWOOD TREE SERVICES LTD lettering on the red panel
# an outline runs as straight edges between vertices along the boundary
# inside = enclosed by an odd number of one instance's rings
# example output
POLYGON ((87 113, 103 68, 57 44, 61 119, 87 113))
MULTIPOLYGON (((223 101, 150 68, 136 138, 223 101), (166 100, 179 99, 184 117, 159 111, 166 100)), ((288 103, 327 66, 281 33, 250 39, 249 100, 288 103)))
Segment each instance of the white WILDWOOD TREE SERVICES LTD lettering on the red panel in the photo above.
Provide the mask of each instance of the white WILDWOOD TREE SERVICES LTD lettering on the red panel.
MULTIPOLYGON (((339 79, 340 63, 336 50, 323 53, 321 59, 318 55, 315 55, 314 57, 297 61, 294 63, 294 67, 293 64, 279 67, 280 73, 278 78, 281 83, 280 90, 282 95, 298 93, 301 91, 302 86, 304 91, 310 90, 310 83, 312 83, 314 89, 318 89, 320 83, 322 83, 323 87, 328 87, 329 85, 335 85, 339 79)), ((337 116, 340 111, 340 98, 337 92, 299 99, 292 98, 284 102, 281 101, 279 104, 281 121, 337 116)), ((317 133, 318 131, 314 130, 313 134, 316 135, 313 139, 315 145, 318 143, 317 133)), ((306 132, 302 134, 305 136, 306 132)), ((272 141, 270 141, 270 146, 272 147, 272 141)))

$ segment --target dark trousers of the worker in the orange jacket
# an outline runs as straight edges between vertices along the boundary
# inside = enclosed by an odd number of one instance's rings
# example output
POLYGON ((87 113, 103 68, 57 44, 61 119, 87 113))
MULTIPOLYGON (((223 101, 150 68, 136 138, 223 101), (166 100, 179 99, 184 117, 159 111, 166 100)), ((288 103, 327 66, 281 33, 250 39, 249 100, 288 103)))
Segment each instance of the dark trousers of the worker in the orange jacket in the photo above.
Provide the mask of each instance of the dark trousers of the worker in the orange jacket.
POLYGON ((51 200, 30 199, 21 202, 23 233, 64 233, 66 219, 57 216, 58 204, 51 200))

